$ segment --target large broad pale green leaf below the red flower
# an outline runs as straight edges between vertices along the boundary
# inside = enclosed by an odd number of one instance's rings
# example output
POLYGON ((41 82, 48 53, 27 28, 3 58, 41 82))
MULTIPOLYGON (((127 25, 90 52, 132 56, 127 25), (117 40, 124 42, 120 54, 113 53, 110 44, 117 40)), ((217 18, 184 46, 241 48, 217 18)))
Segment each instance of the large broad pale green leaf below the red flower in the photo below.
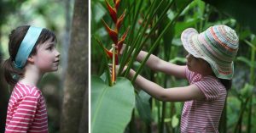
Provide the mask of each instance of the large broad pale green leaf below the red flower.
POLYGON ((108 86, 91 76, 91 132, 122 133, 131 120, 135 107, 135 94, 131 81, 118 77, 116 84, 108 86))

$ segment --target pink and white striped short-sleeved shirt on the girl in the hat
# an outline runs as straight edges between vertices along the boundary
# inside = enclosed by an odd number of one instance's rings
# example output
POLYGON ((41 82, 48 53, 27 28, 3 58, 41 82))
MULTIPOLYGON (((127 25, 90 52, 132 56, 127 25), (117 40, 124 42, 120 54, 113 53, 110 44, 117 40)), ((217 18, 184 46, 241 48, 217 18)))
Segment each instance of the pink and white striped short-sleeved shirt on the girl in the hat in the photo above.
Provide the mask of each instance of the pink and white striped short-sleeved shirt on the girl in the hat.
POLYGON ((186 68, 189 84, 195 84, 205 95, 203 100, 184 103, 181 119, 183 133, 218 133, 218 122, 224 108, 227 91, 213 76, 204 76, 186 68))

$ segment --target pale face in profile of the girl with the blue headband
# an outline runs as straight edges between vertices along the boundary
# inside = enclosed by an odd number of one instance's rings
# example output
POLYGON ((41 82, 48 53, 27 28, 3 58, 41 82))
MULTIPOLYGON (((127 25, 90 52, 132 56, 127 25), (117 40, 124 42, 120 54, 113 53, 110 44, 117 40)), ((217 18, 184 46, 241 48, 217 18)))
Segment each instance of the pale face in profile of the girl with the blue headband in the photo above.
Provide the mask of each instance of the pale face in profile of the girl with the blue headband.
POLYGON ((55 42, 51 38, 37 47, 37 53, 33 55, 34 64, 45 73, 58 69, 60 53, 55 49, 55 42))

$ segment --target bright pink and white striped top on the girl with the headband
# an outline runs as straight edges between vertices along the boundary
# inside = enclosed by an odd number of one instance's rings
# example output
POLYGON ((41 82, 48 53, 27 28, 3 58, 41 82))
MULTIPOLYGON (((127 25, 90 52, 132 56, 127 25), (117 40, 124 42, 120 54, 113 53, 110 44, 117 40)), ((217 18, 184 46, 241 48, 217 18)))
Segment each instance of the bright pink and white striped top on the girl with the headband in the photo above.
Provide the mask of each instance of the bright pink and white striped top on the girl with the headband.
POLYGON ((9 99, 5 133, 48 133, 42 92, 36 86, 15 85, 9 99))

